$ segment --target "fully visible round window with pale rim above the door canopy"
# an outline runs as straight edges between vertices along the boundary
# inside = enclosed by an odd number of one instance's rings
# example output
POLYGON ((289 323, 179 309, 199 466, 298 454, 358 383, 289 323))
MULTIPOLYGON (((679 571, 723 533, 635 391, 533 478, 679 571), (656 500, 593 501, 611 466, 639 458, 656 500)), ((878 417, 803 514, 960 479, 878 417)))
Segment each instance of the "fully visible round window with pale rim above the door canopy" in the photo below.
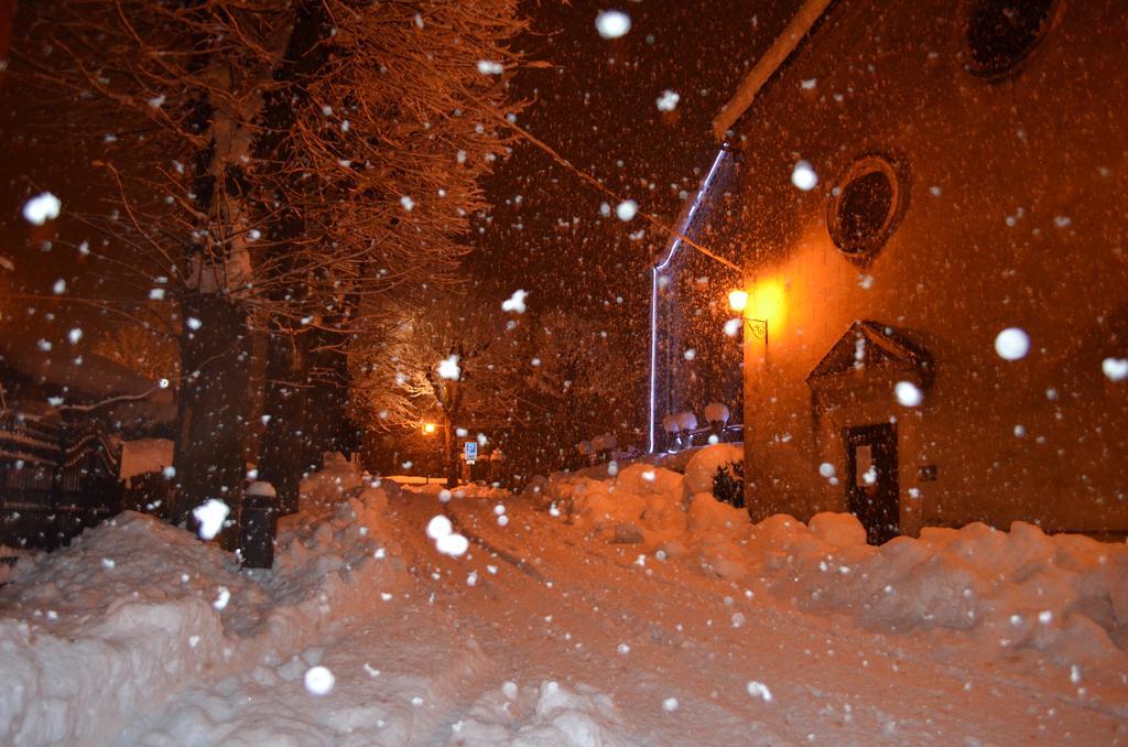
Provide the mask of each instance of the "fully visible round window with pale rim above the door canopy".
POLYGON ((873 254, 897 228, 904 201, 900 179, 889 161, 876 156, 856 161, 831 191, 830 238, 851 256, 873 254))

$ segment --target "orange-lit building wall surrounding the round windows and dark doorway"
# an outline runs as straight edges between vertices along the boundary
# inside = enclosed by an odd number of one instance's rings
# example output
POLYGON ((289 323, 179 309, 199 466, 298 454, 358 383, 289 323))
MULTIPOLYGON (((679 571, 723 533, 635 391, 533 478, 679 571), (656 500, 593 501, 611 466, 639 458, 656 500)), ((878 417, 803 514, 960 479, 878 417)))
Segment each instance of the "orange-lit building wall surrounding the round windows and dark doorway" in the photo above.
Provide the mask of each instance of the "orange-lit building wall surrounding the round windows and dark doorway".
POLYGON ((961 41, 968 5, 832 3, 734 125, 747 166, 717 240, 743 248, 744 316, 768 332, 746 352, 748 501, 801 519, 845 510, 825 474, 845 469, 844 431, 892 422, 902 531, 1022 519, 1116 535, 1128 381, 1102 362, 1128 357, 1128 58, 1099 29, 1128 16, 1060 0, 998 73, 961 41), (836 190, 875 157, 904 209, 851 255, 830 234, 836 190), (800 159, 810 191, 792 182, 800 159), (858 320, 932 355, 919 406, 862 374, 820 401, 809 377, 858 320), (994 348, 1011 326, 1032 342, 1014 362, 994 348))

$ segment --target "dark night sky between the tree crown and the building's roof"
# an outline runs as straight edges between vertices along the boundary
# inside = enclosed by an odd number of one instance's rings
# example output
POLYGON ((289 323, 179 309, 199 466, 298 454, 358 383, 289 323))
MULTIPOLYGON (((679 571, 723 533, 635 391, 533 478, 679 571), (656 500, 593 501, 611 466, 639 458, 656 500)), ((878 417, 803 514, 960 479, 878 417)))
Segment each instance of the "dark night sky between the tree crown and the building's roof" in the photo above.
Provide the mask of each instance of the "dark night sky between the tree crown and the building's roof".
POLYGON ((631 32, 603 39, 594 19, 606 3, 530 3, 535 33, 522 49, 557 67, 518 76, 519 95, 535 99, 519 123, 641 210, 627 223, 601 218, 603 202, 614 208, 608 195, 522 143, 490 183, 495 206, 475 270, 499 292, 532 291, 530 304, 636 324, 650 299, 651 260, 667 240, 642 212, 675 222, 682 193, 693 197, 716 152, 713 117, 795 5, 628 2, 631 32), (679 96, 672 112, 656 105, 666 90, 679 96), (504 273, 491 270, 499 262, 504 273))

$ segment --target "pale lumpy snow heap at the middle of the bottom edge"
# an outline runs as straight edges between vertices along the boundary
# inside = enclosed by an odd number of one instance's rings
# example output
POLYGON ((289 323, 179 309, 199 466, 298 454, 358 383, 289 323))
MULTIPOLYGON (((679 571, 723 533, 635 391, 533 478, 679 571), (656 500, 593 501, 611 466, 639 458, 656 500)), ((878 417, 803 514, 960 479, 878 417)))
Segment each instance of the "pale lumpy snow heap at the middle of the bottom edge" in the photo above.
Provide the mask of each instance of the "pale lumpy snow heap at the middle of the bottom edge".
POLYGON ((556 682, 519 687, 506 682, 479 698, 451 727, 451 744, 636 745, 611 698, 588 686, 571 689, 556 682))

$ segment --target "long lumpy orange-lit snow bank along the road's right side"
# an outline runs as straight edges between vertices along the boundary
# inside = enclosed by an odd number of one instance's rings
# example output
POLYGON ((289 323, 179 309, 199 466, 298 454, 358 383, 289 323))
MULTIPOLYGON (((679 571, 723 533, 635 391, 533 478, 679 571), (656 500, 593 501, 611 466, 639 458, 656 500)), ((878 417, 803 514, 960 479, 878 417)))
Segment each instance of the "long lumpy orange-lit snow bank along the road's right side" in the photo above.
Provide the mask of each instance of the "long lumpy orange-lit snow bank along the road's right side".
POLYGON ((873 630, 966 631, 995 653, 1036 650, 1059 665, 1128 667, 1128 546, 1048 536, 1021 521, 1010 531, 927 528, 881 547, 865 543, 848 513, 752 525, 744 510, 714 499, 712 478, 696 490, 725 458, 722 449, 731 447, 698 451, 684 477, 632 465, 613 480, 556 475, 527 498, 598 538, 638 544, 706 575, 761 582, 803 609, 873 630))

